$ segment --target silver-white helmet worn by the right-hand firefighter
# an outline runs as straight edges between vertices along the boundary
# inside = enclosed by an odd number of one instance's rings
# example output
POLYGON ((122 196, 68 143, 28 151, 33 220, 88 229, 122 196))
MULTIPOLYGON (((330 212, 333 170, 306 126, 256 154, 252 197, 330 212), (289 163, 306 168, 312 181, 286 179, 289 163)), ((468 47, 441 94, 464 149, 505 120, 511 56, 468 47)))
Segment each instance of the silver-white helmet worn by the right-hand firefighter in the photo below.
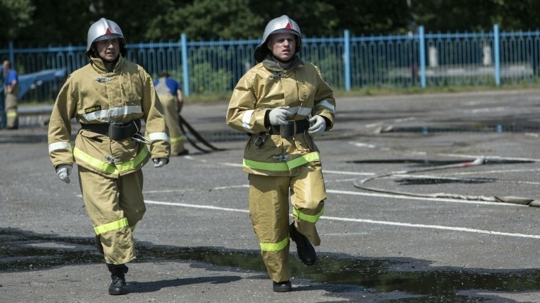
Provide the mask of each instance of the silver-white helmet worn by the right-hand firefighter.
POLYGON ((257 62, 262 62, 264 57, 266 57, 268 54, 269 49, 266 44, 268 43, 269 36, 274 33, 293 33, 296 35, 296 50, 294 50, 294 53, 296 54, 300 51, 302 47, 302 35, 300 32, 300 27, 298 24, 296 24, 296 22, 293 21, 293 19, 288 18, 287 15, 283 15, 279 18, 272 19, 266 25, 266 28, 264 28, 261 45, 255 49, 255 53, 253 55, 257 62))

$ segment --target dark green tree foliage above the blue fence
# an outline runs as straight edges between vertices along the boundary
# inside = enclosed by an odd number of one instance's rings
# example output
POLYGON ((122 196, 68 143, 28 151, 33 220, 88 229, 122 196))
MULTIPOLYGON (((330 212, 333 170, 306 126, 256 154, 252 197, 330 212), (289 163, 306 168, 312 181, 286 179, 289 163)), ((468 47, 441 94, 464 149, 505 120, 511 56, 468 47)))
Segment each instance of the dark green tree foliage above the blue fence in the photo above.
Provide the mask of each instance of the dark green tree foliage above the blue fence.
POLYGON ((416 31, 535 30, 538 0, 0 0, 0 48, 85 45, 90 25, 109 18, 128 43, 261 38, 287 14, 305 36, 388 35, 416 31))

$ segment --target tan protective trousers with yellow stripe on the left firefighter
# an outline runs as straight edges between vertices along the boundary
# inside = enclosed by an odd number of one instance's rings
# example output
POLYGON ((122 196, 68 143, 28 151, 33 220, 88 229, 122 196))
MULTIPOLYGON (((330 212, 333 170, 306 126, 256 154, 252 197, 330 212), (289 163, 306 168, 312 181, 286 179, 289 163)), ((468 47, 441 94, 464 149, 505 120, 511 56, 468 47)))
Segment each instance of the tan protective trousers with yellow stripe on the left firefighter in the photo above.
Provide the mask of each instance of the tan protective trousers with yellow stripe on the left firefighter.
POLYGON ((146 211, 143 172, 137 170, 118 179, 78 166, 82 199, 101 238, 105 262, 124 264, 135 258, 132 232, 146 211))

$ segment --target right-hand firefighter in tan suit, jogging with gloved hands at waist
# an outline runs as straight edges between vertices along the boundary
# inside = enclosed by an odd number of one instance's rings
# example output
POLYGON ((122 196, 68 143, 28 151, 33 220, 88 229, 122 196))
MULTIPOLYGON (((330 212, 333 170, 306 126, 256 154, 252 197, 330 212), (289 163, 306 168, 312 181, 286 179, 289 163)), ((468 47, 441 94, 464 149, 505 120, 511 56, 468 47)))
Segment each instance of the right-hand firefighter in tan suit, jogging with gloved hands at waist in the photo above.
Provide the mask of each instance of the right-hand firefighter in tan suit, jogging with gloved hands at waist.
POLYGON ((274 292, 291 291, 289 236, 300 260, 315 263, 312 243, 320 245, 315 223, 327 197, 312 136, 333 127, 335 99, 318 68, 296 55, 301 41, 291 18, 271 20, 254 53, 259 64, 239 80, 227 109, 227 124, 250 135, 244 150, 249 217, 274 292))

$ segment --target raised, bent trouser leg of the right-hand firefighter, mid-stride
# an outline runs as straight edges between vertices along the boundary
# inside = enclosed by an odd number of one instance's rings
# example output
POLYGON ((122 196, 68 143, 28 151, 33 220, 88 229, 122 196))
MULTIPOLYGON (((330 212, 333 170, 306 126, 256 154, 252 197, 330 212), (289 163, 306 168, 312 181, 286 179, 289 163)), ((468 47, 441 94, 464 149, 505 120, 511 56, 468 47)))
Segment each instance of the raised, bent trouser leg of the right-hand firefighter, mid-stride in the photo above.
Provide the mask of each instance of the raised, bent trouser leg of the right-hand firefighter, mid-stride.
POLYGON ((323 215, 326 197, 320 162, 300 167, 298 175, 291 177, 291 204, 295 226, 314 246, 320 245, 315 223, 323 215))

